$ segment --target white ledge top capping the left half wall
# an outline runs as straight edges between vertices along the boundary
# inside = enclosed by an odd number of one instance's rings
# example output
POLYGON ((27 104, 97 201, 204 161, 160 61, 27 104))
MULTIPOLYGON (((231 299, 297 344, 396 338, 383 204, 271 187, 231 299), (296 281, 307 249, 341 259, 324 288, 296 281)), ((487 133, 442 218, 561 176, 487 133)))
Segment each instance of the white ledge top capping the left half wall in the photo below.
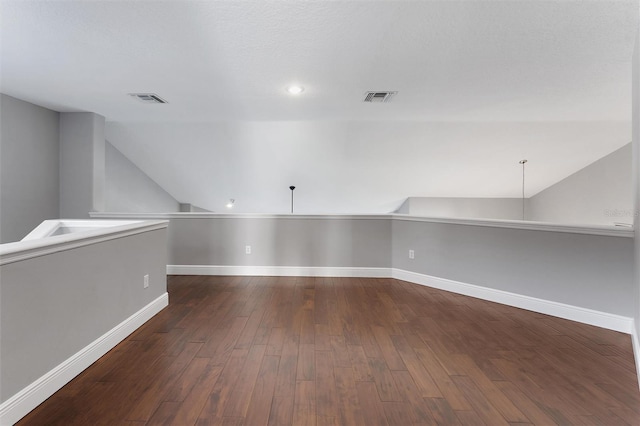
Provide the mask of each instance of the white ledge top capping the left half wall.
POLYGON ((91 226, 93 229, 54 236, 43 235, 42 238, 35 237, 33 239, 0 244, 0 265, 114 240, 116 238, 142 234, 144 232, 166 228, 169 225, 168 220, 134 220, 123 222, 56 219, 53 222, 63 224, 70 223, 76 226, 82 222, 84 225, 93 225, 91 226))

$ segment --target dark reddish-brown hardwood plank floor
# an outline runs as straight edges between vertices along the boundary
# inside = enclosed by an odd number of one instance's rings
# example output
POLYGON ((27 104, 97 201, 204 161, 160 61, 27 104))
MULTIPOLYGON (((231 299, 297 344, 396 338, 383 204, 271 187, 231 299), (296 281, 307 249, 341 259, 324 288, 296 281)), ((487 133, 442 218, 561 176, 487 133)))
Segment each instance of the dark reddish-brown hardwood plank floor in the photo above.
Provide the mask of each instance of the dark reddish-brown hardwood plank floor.
POLYGON ((638 425, 628 335, 392 279, 169 278, 20 425, 638 425))

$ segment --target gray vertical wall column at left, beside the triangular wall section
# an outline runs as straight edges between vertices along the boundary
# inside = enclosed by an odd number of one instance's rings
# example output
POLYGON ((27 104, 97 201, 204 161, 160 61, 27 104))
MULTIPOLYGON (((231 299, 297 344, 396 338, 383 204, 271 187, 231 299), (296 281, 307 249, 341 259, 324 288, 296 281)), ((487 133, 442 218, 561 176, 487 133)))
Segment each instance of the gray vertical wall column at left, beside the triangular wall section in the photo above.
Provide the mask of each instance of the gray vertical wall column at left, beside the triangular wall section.
POLYGON ((60 113, 60 217, 85 219, 104 211, 104 117, 60 113))

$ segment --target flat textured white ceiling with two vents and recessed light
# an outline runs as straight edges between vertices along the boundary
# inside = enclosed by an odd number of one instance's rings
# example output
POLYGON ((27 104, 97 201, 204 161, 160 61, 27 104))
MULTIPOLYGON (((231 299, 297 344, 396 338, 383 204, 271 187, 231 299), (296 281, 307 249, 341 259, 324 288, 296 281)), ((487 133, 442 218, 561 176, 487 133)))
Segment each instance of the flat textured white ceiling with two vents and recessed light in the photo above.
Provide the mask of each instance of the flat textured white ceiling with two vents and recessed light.
POLYGON ((630 118, 637 0, 1 5, 2 92, 108 121, 630 118))

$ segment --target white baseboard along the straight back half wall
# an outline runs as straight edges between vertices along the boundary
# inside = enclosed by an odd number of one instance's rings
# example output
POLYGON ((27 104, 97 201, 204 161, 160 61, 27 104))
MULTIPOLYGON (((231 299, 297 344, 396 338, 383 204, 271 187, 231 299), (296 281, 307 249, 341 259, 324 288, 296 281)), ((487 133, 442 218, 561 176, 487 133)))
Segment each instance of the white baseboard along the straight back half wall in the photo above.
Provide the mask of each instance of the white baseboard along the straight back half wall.
POLYGON ((390 268, 322 266, 167 265, 168 275, 245 275, 265 277, 391 278, 390 268))

